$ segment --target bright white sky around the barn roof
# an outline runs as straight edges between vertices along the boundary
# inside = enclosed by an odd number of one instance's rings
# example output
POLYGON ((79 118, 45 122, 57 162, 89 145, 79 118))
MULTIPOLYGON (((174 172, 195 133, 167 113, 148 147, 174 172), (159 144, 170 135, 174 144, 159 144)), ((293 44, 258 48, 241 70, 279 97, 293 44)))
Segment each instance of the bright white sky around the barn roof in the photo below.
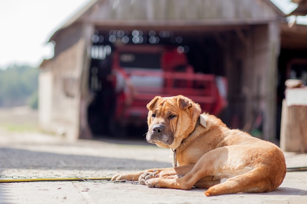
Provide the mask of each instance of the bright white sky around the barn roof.
MULTIPOLYGON (((0 68, 38 67, 43 59, 52 58, 51 35, 89 1, 0 0, 0 68)), ((271 1, 286 14, 296 8, 290 0, 271 1)), ((307 18, 297 22, 307 24, 307 18)))

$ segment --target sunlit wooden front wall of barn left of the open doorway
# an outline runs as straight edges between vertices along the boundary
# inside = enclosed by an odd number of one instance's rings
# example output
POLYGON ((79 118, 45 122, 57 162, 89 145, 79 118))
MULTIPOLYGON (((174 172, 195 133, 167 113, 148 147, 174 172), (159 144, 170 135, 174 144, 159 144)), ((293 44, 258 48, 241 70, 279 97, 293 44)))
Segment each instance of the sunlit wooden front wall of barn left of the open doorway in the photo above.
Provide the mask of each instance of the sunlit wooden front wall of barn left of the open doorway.
POLYGON ((56 57, 49 63, 52 69, 53 92, 51 93, 50 126, 53 132, 65 134, 69 139, 79 135, 80 80, 86 53, 85 40, 81 37, 82 26, 68 28, 67 35, 57 39, 56 57), (71 38, 72 41, 66 41, 71 38))

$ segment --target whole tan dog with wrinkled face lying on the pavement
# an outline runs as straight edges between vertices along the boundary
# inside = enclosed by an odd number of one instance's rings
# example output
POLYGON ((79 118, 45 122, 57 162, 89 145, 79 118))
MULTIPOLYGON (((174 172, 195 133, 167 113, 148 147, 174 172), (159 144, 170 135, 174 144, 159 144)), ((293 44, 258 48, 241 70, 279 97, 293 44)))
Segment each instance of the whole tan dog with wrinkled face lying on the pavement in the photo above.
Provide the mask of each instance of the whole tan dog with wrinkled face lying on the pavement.
POLYGON ((285 159, 275 144, 231 130, 213 115, 200 114, 199 104, 182 95, 156 96, 147 108, 147 141, 176 150, 178 167, 118 174, 112 181, 126 179, 184 190, 208 188, 206 196, 269 192, 283 181, 285 159))

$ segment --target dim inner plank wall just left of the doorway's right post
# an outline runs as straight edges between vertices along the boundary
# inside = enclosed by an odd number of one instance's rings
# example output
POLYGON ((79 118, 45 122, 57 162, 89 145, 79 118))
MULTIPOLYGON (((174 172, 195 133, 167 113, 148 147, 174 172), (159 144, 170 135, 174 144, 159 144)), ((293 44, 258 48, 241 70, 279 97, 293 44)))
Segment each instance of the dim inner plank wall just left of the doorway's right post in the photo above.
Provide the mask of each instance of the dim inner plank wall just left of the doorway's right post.
MULTIPOLYGON (((254 27, 251 32, 251 44, 248 45, 247 63, 244 69, 244 85, 246 87, 245 118, 246 128, 253 129, 257 116, 267 121, 268 104, 266 104, 266 72, 268 62, 268 28, 267 25, 254 27)), ((262 127, 262 138, 266 138, 266 124, 262 127)))

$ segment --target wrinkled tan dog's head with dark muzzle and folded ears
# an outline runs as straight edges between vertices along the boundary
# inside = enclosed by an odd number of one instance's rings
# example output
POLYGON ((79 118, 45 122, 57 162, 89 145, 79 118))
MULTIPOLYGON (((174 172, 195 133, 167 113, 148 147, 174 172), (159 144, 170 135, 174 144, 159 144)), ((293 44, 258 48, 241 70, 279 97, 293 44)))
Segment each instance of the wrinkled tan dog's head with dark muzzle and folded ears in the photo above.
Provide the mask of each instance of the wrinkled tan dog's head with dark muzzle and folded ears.
POLYGON ((147 104, 148 142, 159 147, 176 149, 181 141, 193 132, 201 113, 199 104, 178 95, 155 96, 147 104))

